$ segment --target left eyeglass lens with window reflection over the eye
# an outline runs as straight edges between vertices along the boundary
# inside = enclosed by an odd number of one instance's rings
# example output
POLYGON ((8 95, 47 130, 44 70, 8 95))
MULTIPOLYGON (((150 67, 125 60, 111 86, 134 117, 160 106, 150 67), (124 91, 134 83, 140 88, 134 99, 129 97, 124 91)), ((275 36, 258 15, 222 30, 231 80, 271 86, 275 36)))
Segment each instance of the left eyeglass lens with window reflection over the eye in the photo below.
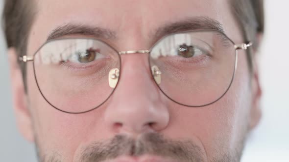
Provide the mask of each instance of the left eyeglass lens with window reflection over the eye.
POLYGON ((69 113, 86 112, 106 101, 114 90, 109 72, 116 68, 120 69, 118 53, 92 39, 50 41, 34 55, 35 77, 43 97, 69 113))

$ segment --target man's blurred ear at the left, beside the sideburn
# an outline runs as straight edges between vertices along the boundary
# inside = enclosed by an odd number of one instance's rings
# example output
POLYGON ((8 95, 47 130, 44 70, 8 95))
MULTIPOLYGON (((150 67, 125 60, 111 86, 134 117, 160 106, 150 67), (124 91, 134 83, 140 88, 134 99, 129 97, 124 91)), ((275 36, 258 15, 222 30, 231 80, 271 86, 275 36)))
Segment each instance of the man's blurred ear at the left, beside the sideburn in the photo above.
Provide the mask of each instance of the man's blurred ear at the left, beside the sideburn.
POLYGON ((13 109, 16 115, 16 123, 20 133, 30 142, 34 141, 32 119, 27 106, 27 97, 24 90, 22 72, 17 62, 18 57, 15 48, 8 49, 10 63, 10 77, 12 85, 13 109))

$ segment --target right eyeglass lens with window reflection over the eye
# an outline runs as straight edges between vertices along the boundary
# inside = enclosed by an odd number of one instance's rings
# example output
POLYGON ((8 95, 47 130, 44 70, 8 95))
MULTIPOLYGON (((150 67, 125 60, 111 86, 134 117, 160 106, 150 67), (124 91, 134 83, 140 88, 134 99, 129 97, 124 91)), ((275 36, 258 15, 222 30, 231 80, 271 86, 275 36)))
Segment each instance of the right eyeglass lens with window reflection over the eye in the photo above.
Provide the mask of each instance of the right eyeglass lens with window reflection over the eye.
POLYGON ((218 32, 169 35, 150 53, 150 65, 161 72, 158 85, 164 94, 172 101, 195 107, 217 101, 226 93, 235 61, 233 42, 218 32))

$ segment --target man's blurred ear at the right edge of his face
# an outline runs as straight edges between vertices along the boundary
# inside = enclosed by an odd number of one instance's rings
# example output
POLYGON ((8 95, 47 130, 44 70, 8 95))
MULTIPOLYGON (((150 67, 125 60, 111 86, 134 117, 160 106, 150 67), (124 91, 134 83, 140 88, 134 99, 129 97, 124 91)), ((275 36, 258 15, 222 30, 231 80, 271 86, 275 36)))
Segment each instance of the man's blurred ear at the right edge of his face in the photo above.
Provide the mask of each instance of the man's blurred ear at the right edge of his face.
MULTIPOLYGON (((258 44, 261 44, 263 35, 258 34, 258 44)), ((258 48, 258 47, 257 47, 258 48)), ((257 53, 256 49, 253 50, 252 63, 253 63, 253 75, 251 78, 251 88, 252 88, 252 107, 250 111, 250 130, 255 128, 261 120, 262 110, 261 110, 261 97, 262 97, 262 88, 259 81, 259 68, 257 62, 257 53)))

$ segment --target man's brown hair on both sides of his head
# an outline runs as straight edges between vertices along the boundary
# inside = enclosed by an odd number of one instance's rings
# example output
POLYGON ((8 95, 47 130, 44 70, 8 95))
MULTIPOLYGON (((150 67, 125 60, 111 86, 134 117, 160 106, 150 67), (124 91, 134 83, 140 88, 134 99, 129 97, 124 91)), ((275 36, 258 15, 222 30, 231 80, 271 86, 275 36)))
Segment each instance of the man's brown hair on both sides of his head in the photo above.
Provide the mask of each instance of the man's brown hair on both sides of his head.
MULTIPOLYGON (((17 55, 26 55, 27 38, 33 23, 35 10, 34 0, 5 0, 3 29, 8 47, 15 47, 17 55)), ((239 23, 245 41, 252 41, 253 48, 258 48, 257 34, 264 33, 263 0, 230 0, 231 10, 239 23)), ((252 52, 248 50, 247 60, 252 69, 252 52)), ((25 63, 19 61, 26 81, 25 63)))

